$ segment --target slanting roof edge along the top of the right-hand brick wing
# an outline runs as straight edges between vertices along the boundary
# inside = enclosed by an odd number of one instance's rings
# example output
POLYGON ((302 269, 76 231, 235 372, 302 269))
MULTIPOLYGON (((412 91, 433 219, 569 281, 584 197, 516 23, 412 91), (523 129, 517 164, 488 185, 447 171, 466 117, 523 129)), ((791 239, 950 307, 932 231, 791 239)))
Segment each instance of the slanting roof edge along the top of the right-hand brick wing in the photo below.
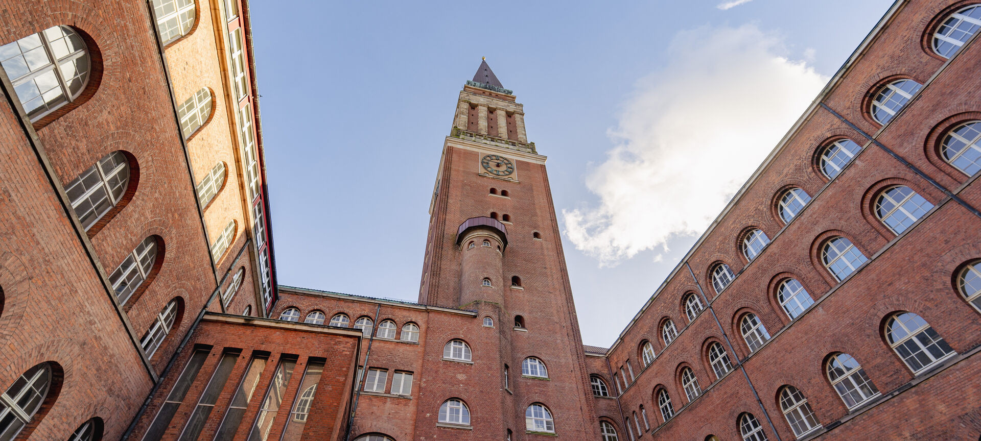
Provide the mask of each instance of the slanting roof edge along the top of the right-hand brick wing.
POLYGON ((709 234, 711 234, 712 231, 715 230, 715 227, 720 223, 720 221, 722 221, 722 219, 725 218, 730 211, 732 211, 732 209, 736 206, 736 204, 746 194, 746 191, 749 189, 749 187, 753 183, 755 183, 755 181, 759 178, 759 176, 770 167, 770 165, 773 163, 773 160, 777 157, 777 155, 783 152, 784 147, 786 147, 787 143, 794 137, 795 134, 797 134, 797 132, 800 130, 800 127, 804 123, 809 121, 811 117, 814 116, 817 109, 820 108, 820 103, 824 101, 824 99, 837 88, 837 86, 841 83, 841 80, 845 76, 845 74, 852 70, 852 67, 854 66, 855 62, 864 55, 865 51, 868 49, 869 46, 871 46, 872 42, 875 41, 876 38, 879 36, 879 34, 882 32, 882 30, 885 29, 893 21, 893 19, 896 18, 897 13, 899 13, 900 10, 902 10, 908 2, 909 0, 896 0, 895 2, 893 2, 893 5, 889 8, 889 10, 886 11, 886 14, 883 15, 881 19, 879 19, 879 22, 874 27, 872 27, 871 30, 869 30, 868 34, 865 35, 865 38, 858 45, 858 47, 856 47, 855 50, 852 51, 852 55, 849 57, 849 59, 845 61, 845 63, 842 65, 841 68, 838 68, 838 71, 831 77, 828 83, 825 84, 824 88, 821 89, 821 92, 817 94, 817 97, 815 97, 814 100, 811 101, 810 105, 807 106, 807 110, 804 111, 804 113, 800 116, 798 121, 794 123, 794 125, 791 126, 791 129, 787 131, 787 133, 784 135, 783 138, 780 139, 780 142, 778 142, 776 147, 774 147, 773 150, 770 151, 770 154, 766 156, 766 159, 763 160, 762 164, 760 164, 759 167, 756 168, 754 172, 752 172, 752 174, 749 176, 749 179, 746 181, 746 183, 743 184, 742 187, 740 187, 739 191, 736 192, 733 198, 729 200, 729 203, 726 204, 726 207, 722 209, 722 212, 719 213, 719 215, 715 218, 715 220, 713 220, 712 223, 710 223, 708 227, 705 229, 705 231, 701 233, 701 236, 698 237, 698 240, 695 242, 694 245, 692 245, 692 248, 688 250, 688 253, 685 254, 685 257, 683 257, 678 262, 678 265, 675 266, 674 270, 671 270, 671 272, 666 277, 664 277, 664 281, 662 281, 660 286, 657 287, 657 290, 655 290, 654 293, 650 295, 650 298, 647 299, 647 301, 644 304, 644 307, 642 307, 641 310, 638 311, 638 313, 634 316, 634 318, 627 323, 627 326, 624 327, 622 331, 620 331, 620 335, 617 336, 616 341, 614 341, 613 344, 610 345, 610 348, 606 351, 606 356, 611 354, 613 352, 613 349, 615 349, 623 341, 624 335, 626 335, 626 333, 631 329, 631 327, 634 326, 634 323, 636 323, 638 319, 640 319, 641 316, 644 315, 647 308, 650 307, 654 299, 656 299, 657 296, 661 293, 661 291, 664 290, 668 282, 670 282, 675 277, 675 275, 677 275, 678 271, 682 269, 685 263, 692 258, 692 256, 695 254, 695 252, 697 251, 698 247, 702 244, 702 242, 704 242, 705 239, 709 236, 709 234))

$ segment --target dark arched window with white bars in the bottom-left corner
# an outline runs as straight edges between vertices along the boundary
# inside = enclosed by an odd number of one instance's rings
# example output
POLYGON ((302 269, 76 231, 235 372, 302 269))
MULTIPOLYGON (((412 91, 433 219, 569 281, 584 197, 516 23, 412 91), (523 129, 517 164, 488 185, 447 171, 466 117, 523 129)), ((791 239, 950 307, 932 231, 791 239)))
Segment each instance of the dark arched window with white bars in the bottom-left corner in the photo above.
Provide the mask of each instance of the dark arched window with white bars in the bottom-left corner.
POLYGON ((0 395, 0 439, 13 440, 30 422, 48 396, 51 376, 50 365, 36 365, 0 395))

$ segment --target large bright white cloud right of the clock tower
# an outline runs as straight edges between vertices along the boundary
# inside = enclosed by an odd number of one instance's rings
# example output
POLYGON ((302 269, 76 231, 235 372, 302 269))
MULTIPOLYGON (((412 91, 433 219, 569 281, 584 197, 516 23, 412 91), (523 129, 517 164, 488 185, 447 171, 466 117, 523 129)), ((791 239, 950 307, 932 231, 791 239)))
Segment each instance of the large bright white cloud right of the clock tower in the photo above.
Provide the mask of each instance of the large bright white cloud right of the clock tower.
POLYGON ((828 80, 784 52, 754 25, 680 32, 586 178, 598 206, 562 211, 576 248, 610 266, 704 231, 828 80))

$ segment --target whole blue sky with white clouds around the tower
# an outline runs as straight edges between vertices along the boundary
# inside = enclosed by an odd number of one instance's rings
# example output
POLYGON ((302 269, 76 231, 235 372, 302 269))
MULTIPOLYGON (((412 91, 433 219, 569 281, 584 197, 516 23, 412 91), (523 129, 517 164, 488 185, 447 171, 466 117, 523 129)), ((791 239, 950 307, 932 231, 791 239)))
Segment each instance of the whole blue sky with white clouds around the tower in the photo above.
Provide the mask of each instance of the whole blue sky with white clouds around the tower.
POLYGON ((584 343, 608 346, 892 4, 722 3, 252 2, 280 282, 417 299, 487 57, 548 157, 584 343))

